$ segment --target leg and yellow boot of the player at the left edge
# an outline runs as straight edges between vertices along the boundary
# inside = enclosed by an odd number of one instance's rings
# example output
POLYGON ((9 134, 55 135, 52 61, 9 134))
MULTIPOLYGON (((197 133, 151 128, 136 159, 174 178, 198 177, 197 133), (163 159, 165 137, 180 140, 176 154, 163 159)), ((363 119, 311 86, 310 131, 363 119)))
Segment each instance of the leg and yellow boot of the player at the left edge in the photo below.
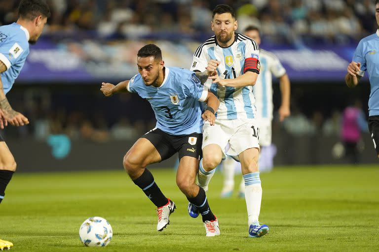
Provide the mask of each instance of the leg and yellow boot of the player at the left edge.
MULTIPOLYGON (((5 189, 15 170, 16 161, 0 135, 0 203, 5 196, 5 189)), ((0 250, 9 249, 12 246, 13 243, 0 239, 0 250)))

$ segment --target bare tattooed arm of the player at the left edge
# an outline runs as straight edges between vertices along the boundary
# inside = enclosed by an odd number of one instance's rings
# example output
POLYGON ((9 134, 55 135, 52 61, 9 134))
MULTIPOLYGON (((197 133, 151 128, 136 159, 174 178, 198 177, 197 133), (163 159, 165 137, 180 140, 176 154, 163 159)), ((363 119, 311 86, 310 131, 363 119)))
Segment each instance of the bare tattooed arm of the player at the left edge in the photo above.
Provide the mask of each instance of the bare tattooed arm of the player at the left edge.
MULTIPOLYGON (((0 73, 6 71, 6 65, 0 61, 0 73)), ((23 114, 14 111, 10 106, 8 99, 5 97, 4 89, 2 86, 2 81, 0 77, 0 110, 2 111, 3 118, 6 119, 13 126, 23 126, 25 124, 29 124, 28 118, 26 118, 23 114)), ((6 122, 5 122, 6 126, 6 122)), ((0 124, 1 127, 1 124, 0 124)))

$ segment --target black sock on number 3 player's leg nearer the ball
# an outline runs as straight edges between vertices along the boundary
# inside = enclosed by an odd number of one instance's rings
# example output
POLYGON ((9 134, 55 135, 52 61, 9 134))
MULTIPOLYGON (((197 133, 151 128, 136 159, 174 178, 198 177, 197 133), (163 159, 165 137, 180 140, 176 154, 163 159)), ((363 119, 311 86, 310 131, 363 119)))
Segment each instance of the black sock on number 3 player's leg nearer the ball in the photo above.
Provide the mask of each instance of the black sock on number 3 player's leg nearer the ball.
POLYGON ((133 180, 139 188, 141 188, 146 196, 154 203, 156 207, 161 207, 167 204, 168 199, 160 191, 158 185, 154 181, 152 173, 145 168, 144 173, 137 179, 133 180))

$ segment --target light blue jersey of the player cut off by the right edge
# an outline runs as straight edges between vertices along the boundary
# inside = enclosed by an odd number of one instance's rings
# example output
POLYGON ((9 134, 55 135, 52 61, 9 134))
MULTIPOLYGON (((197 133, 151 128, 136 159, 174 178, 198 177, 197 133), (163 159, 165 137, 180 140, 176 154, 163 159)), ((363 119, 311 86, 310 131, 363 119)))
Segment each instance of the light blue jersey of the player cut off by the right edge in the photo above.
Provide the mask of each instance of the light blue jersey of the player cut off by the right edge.
POLYGON ((379 30, 363 38, 355 49, 354 62, 361 63, 360 76, 367 71, 371 92, 369 98, 369 116, 379 115, 379 30))

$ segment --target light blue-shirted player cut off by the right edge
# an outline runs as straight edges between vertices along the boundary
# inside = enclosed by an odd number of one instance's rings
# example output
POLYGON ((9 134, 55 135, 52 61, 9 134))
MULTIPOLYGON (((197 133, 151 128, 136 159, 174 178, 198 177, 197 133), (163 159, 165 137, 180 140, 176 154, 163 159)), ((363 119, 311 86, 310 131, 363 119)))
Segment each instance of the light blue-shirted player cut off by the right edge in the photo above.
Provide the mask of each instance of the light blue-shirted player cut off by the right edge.
MULTIPOLYGON (((379 26, 379 0, 375 1, 375 17, 379 26)), ((371 93, 369 98, 369 130, 379 158, 379 30, 363 38, 355 49, 353 61, 347 66, 346 85, 354 88, 367 71, 371 93)))

